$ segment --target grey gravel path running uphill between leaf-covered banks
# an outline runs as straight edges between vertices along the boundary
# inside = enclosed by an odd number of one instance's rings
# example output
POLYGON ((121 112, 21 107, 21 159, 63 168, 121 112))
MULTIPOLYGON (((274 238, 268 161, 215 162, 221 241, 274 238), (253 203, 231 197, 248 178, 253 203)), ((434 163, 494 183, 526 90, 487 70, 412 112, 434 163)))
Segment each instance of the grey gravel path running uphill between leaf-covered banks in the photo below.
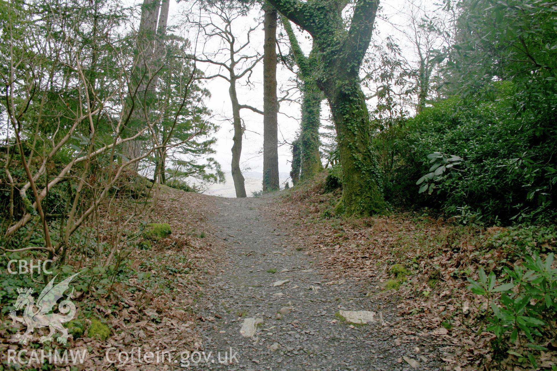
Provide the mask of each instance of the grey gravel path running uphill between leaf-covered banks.
MULTIPOLYGON (((361 284, 331 283, 301 246, 290 245, 289 231, 266 220, 258 206, 267 198, 219 199, 212 222, 228 244, 226 264, 209 278, 199 303, 206 319, 203 349, 208 362, 195 369, 229 370, 437 370, 434 349, 390 334, 397 322, 393 304, 366 297, 361 284), (276 270, 275 273, 272 271, 276 270), (280 280, 289 280, 272 286, 280 280), (281 311, 282 319, 277 319, 281 311), (350 325, 339 310, 377 312, 377 322, 350 325), (240 331, 246 318, 260 318, 251 338, 240 331), (384 318, 382 324, 381 318, 384 318), (278 348, 278 349, 277 349, 278 348), (217 352, 236 354, 220 364, 217 352), (237 353, 236 353, 237 352, 237 353), (404 360, 407 358, 407 360, 404 360), (238 360, 238 362, 236 362, 238 360), (214 363, 213 363, 214 362, 214 363), (414 363, 416 362, 416 363, 414 363), (413 366, 409 363, 413 363, 413 366)), ((344 281, 344 282, 343 282, 344 281)), ((196 360, 196 359, 194 359, 196 360)))

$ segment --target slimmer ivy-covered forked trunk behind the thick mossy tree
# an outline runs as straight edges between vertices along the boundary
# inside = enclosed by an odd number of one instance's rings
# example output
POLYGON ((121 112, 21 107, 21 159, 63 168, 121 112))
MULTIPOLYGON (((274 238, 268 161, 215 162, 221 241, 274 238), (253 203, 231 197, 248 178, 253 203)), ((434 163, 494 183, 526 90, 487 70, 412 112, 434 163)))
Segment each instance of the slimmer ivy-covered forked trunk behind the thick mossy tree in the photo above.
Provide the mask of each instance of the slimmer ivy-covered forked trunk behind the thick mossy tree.
MULTIPOLYGON (((300 138, 296 147, 299 150, 297 154, 297 161, 300 162, 299 180, 304 181, 323 170, 321 155, 319 154, 319 126, 323 93, 315 82, 316 52, 312 50, 306 57, 300 48, 294 31, 292 31, 290 21, 282 17, 282 24, 284 24, 286 34, 290 40, 292 54, 294 54, 294 61, 299 69, 298 78, 302 81, 302 119, 300 138)), ((292 156, 294 156, 294 152, 292 152, 292 156)), ((292 162, 292 166, 294 166, 294 162, 292 162)), ((294 182, 294 178, 292 178, 292 181, 294 182)))

